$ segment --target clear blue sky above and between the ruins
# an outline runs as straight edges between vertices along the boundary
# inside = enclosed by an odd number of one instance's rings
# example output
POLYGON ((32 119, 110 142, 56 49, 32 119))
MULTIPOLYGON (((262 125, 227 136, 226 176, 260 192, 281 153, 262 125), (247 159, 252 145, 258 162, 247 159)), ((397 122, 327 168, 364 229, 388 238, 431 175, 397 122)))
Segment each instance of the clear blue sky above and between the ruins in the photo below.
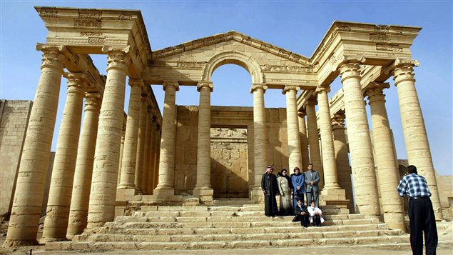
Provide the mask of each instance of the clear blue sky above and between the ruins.
MULTIPOLYGON (((39 80, 46 28, 34 6, 139 9, 153 50, 204 36, 235 30, 270 44, 310 57, 334 20, 374 24, 422 26, 411 47, 420 61, 414 70, 417 92, 427 124, 434 168, 452 174, 452 1, 4 1, 1 2, 0 98, 34 100, 39 80)), ((92 56, 106 74, 106 56, 92 56)), ((213 74, 213 105, 252 106, 251 79, 240 66, 220 66, 213 74)), ((397 156, 406 159, 397 90, 385 91, 397 156)), ((334 81, 332 96, 341 84, 334 81)), ((162 109, 163 90, 153 86, 162 109)), ((126 91, 128 95, 128 91, 126 91)), ((56 133, 66 99, 62 80, 56 133)), ((126 107, 128 99, 126 98, 126 107)), ((176 95, 180 105, 197 105, 195 87, 176 95)), ((285 107, 279 90, 268 90, 266 107, 285 107)), ((126 108, 127 109, 127 108, 126 108)), ((370 111, 370 109, 367 109, 370 111)))

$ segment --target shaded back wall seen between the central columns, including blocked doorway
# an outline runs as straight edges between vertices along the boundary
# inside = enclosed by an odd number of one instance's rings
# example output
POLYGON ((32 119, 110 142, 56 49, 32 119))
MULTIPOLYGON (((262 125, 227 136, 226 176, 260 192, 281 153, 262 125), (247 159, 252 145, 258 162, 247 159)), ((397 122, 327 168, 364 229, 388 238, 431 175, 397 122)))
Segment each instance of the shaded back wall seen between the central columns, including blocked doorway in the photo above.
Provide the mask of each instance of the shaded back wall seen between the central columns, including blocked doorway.
MULTIPOLYGON (((276 172, 287 169, 285 109, 266 109, 266 121, 266 164, 273 164, 276 172)), ((211 184, 214 196, 248 197, 245 190, 253 186, 253 108, 212 106, 211 126, 211 184), (231 136, 228 136, 229 131, 231 136), (216 136, 216 132, 226 132, 227 135, 216 136)), ((195 187, 197 134, 198 106, 178 106, 175 194, 192 194, 195 187)))

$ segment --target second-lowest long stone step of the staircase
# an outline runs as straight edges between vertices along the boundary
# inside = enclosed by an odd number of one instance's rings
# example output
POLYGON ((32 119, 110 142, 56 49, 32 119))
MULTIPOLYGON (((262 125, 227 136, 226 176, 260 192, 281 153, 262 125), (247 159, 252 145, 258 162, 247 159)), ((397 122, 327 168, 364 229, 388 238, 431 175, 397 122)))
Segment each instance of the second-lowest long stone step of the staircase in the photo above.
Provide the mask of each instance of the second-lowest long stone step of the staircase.
POLYGON ((399 230, 365 230, 365 231, 330 231, 314 232, 300 229, 295 233, 264 233, 264 234, 185 234, 185 235, 126 235, 126 234, 91 234, 79 236, 74 241, 111 242, 181 242, 181 241, 244 241, 244 240, 278 240, 278 239, 322 239, 322 238, 345 238, 365 236, 397 236, 403 234, 399 230))

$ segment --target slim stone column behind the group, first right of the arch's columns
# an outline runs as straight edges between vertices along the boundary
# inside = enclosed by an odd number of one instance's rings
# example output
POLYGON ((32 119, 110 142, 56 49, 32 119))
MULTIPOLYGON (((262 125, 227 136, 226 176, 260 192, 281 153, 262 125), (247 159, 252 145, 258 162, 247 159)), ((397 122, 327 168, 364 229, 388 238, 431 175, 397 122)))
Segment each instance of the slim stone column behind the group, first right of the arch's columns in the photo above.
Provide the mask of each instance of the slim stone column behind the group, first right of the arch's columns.
POLYGON ((299 121, 297 118, 296 94, 300 90, 298 86, 285 86, 282 94, 286 94, 286 125, 287 146, 289 154, 290 171, 296 166, 302 167, 302 155, 300 153, 299 121))

